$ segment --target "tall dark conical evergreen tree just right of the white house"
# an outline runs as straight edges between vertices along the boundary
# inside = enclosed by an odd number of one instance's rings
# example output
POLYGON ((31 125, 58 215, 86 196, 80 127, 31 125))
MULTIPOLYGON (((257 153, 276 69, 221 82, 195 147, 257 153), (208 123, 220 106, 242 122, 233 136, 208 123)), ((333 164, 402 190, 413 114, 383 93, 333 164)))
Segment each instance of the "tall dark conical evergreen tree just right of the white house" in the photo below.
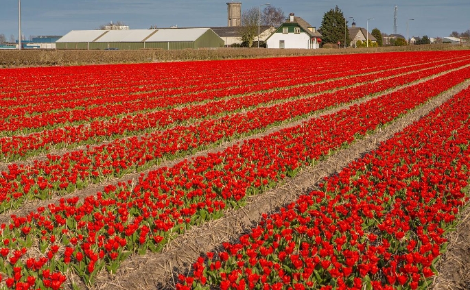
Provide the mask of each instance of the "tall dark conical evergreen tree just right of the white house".
POLYGON ((347 29, 347 21, 338 5, 336 5, 335 9, 331 9, 323 15, 320 33, 322 34, 322 44, 339 42, 344 47, 345 39, 346 46, 351 42, 347 29))

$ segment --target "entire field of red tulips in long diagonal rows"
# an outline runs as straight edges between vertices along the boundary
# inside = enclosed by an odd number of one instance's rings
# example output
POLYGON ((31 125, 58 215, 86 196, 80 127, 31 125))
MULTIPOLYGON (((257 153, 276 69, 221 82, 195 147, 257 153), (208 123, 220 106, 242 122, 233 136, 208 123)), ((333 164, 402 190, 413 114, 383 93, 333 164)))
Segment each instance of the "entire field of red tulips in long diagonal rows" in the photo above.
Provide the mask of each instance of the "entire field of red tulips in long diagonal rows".
POLYGON ((465 50, 2 69, 0 287, 432 289, 469 199, 469 85, 465 50))

